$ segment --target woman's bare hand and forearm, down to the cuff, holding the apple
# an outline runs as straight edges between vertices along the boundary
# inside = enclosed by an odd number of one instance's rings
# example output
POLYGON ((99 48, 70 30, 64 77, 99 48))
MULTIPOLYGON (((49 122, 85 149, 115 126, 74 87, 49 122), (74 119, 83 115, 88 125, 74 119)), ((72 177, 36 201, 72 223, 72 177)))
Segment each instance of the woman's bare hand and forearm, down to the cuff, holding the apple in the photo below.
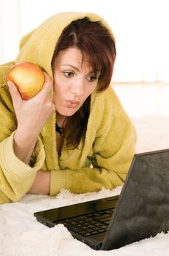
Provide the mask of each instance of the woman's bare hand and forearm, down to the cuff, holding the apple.
POLYGON ((42 127, 55 112, 55 105, 50 96, 52 81, 46 73, 44 76, 42 90, 29 100, 23 100, 15 84, 11 81, 7 82, 17 117, 14 151, 15 155, 27 165, 42 127))

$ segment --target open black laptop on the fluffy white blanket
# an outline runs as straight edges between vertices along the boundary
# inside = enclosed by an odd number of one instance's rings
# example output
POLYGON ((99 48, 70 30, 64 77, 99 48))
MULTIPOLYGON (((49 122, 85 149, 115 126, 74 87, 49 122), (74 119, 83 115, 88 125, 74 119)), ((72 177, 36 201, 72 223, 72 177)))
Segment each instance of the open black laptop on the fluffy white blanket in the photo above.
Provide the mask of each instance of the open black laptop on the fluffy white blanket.
POLYGON ((119 196, 34 213, 39 222, 65 225, 97 250, 121 246, 169 230, 169 149, 135 154, 119 196))

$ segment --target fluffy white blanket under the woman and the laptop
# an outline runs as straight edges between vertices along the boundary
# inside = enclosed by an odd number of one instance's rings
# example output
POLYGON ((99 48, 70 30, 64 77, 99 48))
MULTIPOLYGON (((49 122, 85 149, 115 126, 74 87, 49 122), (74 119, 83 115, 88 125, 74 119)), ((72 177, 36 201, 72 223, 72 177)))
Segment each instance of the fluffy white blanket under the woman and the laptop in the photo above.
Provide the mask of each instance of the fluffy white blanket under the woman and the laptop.
MULTIPOLYGON (((137 152, 168 148, 168 117, 142 116, 133 118, 138 131, 137 152)), ((1 256, 50 256, 50 255, 112 255, 112 256, 167 256, 169 234, 160 233, 122 248, 94 251, 74 239, 63 225, 49 228, 36 221, 35 211, 66 206, 86 200, 118 195, 121 187, 114 190, 75 195, 62 189, 57 197, 26 195, 17 203, 0 206, 0 255, 1 256)))

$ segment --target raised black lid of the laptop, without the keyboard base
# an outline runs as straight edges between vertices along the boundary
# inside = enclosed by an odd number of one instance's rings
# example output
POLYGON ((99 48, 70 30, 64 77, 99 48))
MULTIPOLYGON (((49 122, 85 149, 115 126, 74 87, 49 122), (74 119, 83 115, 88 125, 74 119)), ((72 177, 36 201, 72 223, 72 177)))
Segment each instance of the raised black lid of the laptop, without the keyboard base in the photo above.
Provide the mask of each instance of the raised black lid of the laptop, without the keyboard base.
POLYGON ((135 154, 103 249, 169 230, 169 150, 135 154))

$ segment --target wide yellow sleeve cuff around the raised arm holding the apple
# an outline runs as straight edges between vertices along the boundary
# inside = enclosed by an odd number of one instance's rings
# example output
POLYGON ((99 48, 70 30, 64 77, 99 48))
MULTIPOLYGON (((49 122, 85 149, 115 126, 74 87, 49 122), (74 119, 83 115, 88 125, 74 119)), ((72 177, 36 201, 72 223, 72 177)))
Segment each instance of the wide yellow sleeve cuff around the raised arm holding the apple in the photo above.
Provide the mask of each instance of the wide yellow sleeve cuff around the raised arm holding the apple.
POLYGON ((34 183, 36 173, 45 159, 44 146, 38 138, 34 152, 34 165, 25 165, 13 150, 14 132, 0 143, 0 203, 17 201, 23 197, 34 183))

